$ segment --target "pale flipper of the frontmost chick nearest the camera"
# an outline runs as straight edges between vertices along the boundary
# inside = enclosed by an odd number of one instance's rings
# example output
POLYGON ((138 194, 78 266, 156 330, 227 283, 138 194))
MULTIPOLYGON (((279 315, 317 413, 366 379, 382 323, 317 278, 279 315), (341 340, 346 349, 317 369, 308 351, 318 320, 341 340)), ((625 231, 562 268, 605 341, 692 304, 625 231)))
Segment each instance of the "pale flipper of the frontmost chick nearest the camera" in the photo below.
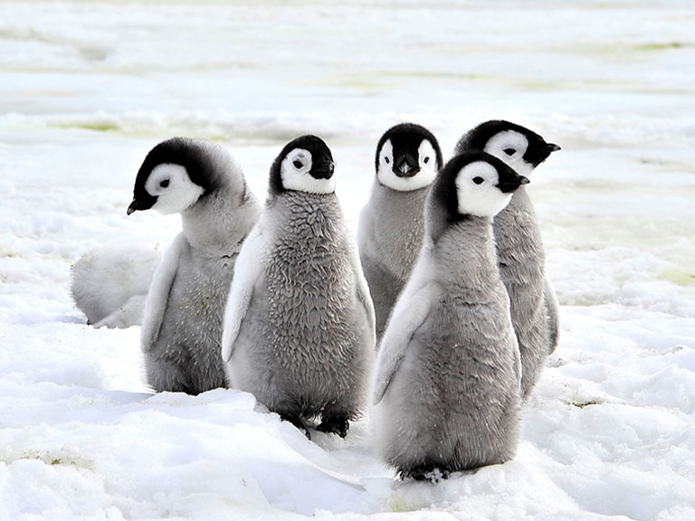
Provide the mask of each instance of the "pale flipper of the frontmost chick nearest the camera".
POLYGON ((430 314, 433 288, 427 284, 414 292, 404 291, 395 305, 379 346, 374 384, 374 404, 384 398, 388 385, 403 362, 405 351, 414 342, 417 330, 430 314))

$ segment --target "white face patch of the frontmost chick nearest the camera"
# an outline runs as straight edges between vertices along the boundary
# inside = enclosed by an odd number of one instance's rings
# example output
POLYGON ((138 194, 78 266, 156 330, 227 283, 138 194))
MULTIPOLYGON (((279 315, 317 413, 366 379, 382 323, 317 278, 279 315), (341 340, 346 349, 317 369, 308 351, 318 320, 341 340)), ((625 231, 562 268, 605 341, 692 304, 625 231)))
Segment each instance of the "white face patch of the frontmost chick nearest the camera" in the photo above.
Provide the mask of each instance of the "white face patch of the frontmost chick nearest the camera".
POLYGON ((456 175, 456 198, 459 213, 494 217, 509 201, 511 194, 503 193, 497 186, 499 176, 490 163, 475 161, 463 166, 456 175))

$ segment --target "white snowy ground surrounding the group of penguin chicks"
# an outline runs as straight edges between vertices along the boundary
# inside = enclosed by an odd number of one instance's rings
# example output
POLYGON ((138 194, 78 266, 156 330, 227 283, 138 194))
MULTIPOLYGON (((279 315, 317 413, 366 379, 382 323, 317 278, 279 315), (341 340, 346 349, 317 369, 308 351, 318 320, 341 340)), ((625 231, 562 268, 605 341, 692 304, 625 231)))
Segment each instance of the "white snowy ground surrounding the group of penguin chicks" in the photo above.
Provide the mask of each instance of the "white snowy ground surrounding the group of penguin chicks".
POLYGON ((0 520, 695 518, 695 8, 0 1, 0 520), (255 192, 326 138, 350 225, 390 125, 448 153, 508 118, 563 151, 529 190, 562 338, 518 457, 395 481, 368 418, 311 442, 253 397, 148 393, 138 327, 87 327, 72 262, 166 247, 126 216, 159 140, 220 140, 255 192))

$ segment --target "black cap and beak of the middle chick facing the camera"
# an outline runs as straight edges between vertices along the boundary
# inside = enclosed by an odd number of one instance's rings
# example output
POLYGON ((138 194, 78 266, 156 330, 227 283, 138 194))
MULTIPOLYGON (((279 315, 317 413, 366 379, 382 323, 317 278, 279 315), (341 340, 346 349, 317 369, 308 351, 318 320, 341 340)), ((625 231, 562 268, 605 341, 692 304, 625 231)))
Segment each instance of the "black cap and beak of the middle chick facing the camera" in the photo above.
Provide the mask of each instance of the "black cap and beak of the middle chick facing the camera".
POLYGON ((379 169, 381 148, 384 147, 384 144, 389 139, 391 140, 391 145, 394 147, 394 162, 391 168, 395 175, 399 177, 412 177, 417 174, 420 169, 417 151, 424 139, 432 143, 436 155, 436 157, 434 157, 436 169, 439 170, 442 168, 442 150, 433 133, 427 130, 427 128, 415 123, 400 123, 386 130, 381 139, 379 139, 376 145, 376 170, 379 169))

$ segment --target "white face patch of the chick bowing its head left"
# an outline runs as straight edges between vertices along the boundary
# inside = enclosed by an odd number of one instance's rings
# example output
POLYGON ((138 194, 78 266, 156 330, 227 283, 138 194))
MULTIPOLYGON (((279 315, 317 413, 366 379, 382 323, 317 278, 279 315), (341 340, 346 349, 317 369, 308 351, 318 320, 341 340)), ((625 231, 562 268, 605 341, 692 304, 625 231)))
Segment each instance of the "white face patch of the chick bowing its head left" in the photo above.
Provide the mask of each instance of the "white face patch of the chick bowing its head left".
POLYGON ((145 189, 157 197, 152 208, 165 214, 183 212, 205 192, 202 186, 191 181, 186 168, 173 163, 155 166, 149 173, 145 189))

